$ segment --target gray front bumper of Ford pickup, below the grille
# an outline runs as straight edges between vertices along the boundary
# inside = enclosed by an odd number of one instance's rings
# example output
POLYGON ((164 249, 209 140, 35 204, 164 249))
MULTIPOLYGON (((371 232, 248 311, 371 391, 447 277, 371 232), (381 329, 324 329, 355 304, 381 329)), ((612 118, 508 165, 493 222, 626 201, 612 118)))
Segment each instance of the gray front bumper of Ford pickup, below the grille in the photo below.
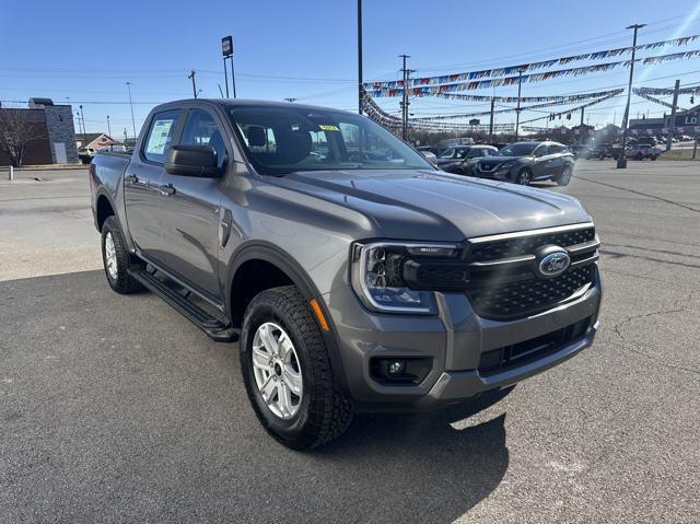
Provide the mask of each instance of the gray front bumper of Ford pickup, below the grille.
POLYGON ((441 408, 510 386, 570 359, 591 346, 602 301, 596 266, 594 286, 582 296, 529 317, 479 317, 464 293, 436 293, 435 316, 369 312, 350 287, 324 295, 330 312, 348 393, 359 411, 420 411, 441 408), (480 373, 482 353, 535 339, 590 319, 587 329, 541 358, 501 372, 480 373), (382 385, 370 374, 381 358, 430 358, 431 371, 418 385, 382 385))

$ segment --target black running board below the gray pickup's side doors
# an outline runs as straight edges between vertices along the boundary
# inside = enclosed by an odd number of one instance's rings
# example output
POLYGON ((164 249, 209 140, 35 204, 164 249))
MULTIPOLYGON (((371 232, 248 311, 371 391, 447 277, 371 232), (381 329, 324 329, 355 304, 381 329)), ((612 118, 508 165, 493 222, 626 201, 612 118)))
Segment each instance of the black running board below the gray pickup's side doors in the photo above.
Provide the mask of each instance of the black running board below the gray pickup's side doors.
POLYGON ((145 269, 131 269, 131 276, 141 282, 144 288, 155 293, 189 321, 218 342, 235 342, 238 340, 238 330, 223 324, 201 307, 185 299, 177 291, 171 289, 165 282, 154 277, 145 269))

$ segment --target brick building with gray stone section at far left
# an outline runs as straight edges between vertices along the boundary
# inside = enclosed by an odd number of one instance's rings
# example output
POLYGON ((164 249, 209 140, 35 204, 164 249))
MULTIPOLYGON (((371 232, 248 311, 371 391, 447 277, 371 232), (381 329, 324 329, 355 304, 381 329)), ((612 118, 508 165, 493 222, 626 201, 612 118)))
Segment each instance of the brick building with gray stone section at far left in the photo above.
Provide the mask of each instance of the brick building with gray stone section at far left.
POLYGON ((73 110, 50 98, 30 98, 28 107, 0 107, 0 165, 9 165, 9 139, 25 142, 22 164, 72 164, 78 162, 73 110), (19 130, 18 130, 19 129, 19 130), (14 135, 14 136, 13 136, 14 135))

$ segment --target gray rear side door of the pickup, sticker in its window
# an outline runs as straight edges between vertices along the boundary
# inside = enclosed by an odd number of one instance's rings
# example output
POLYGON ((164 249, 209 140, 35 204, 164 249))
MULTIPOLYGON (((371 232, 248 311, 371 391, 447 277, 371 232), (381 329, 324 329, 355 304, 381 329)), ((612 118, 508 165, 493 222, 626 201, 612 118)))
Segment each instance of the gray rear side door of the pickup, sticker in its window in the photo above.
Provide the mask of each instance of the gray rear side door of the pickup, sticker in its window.
POLYGON ((124 201, 129 233, 137 248, 158 259, 162 244, 162 217, 159 209, 163 162, 177 132, 180 110, 156 113, 133 152, 124 174, 124 201))

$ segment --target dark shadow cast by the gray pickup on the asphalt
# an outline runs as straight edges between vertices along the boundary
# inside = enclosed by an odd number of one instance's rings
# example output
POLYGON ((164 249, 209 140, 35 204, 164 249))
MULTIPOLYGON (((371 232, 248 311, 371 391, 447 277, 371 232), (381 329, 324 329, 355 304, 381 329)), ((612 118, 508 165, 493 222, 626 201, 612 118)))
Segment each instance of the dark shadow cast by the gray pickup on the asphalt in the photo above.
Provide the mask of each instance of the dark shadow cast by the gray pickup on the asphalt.
POLYGON ((0 282, 0 317, 8 522, 452 522, 509 466, 488 409, 509 389, 288 450, 253 414, 237 345, 102 270, 0 282))

